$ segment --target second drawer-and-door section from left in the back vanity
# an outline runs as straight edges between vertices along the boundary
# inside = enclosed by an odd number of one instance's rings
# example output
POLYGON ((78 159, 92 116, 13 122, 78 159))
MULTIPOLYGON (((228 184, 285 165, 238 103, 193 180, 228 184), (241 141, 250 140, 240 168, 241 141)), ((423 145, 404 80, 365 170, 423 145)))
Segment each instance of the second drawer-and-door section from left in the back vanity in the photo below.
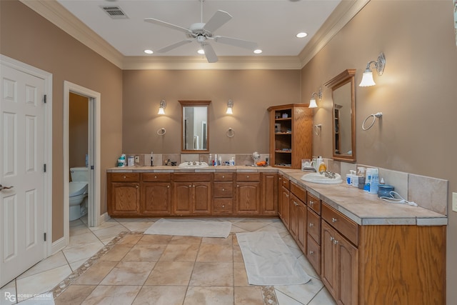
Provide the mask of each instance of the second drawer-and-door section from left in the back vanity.
POLYGON ((171 174, 141 174, 140 212, 144 216, 171 215, 171 174))

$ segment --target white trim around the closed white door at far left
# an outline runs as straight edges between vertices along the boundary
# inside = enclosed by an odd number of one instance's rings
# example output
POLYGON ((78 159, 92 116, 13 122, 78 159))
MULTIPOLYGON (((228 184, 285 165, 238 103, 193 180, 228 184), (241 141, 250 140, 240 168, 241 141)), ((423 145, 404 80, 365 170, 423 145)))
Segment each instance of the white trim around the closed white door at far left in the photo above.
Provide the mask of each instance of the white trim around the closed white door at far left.
POLYGON ((44 242, 44 258, 46 258, 52 254, 52 74, 2 54, 0 54, 0 61, 4 66, 44 79, 44 94, 46 94, 46 104, 44 104, 44 163, 46 164, 46 174, 44 175, 43 230, 46 232, 46 241, 44 242))

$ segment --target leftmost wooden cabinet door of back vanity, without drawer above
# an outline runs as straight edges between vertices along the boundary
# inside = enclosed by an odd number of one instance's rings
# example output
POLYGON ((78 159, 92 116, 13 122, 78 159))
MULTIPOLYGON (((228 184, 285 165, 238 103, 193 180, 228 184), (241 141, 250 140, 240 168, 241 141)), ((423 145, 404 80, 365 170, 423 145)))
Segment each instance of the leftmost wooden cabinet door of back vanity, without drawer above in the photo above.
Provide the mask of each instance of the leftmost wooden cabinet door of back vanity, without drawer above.
POLYGON ((138 182, 111 182, 111 202, 109 215, 131 216, 140 211, 140 191, 138 182))

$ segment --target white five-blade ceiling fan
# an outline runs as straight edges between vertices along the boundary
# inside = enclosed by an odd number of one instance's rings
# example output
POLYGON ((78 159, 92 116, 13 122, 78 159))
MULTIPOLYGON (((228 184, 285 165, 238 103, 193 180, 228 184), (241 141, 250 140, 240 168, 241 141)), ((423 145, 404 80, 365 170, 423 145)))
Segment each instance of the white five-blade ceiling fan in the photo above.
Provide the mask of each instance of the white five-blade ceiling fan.
POLYGON ((182 46, 184 44, 189 44, 192 41, 197 41, 200 45, 201 48, 204 49, 206 59, 208 62, 213 63, 218 61, 216 52, 214 52, 213 47, 211 44, 209 44, 209 40, 214 40, 216 42, 220 42, 221 44, 230 44, 231 46, 239 46, 241 48, 246 48, 246 49, 256 49, 257 44, 253 41, 246 41, 242 39, 236 39, 236 38, 231 38, 231 37, 226 37, 226 36, 214 36, 213 32, 216 31, 216 29, 219 29, 221 26, 226 24, 227 21, 229 21, 232 16, 227 13, 226 11, 216 11, 214 15, 209 19, 206 24, 203 22, 203 1, 200 0, 201 6, 200 6, 200 11, 201 11, 201 20, 199 23, 191 24, 189 26, 189 29, 186 29, 182 26, 177 26, 176 24, 169 24, 168 22, 161 21, 159 19, 154 19, 154 18, 145 18, 144 21, 150 22, 151 24, 157 24, 159 26, 166 26, 170 29, 175 29, 177 31, 184 32, 187 36, 187 39, 178 41, 174 44, 171 44, 169 46, 166 46, 162 49, 157 50, 157 53, 165 53, 168 52, 172 49, 175 49, 179 46, 182 46))

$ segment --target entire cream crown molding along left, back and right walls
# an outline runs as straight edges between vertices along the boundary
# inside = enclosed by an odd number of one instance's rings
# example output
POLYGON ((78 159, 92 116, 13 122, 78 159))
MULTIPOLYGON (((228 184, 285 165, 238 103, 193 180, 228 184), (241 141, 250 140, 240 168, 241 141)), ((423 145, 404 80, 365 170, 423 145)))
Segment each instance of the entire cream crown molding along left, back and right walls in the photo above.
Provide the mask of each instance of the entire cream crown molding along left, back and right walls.
MULTIPOLYGON (((1 1, 1 0, 0 0, 1 1)), ((19 0, 120 69, 302 69, 370 0, 342 0, 298 56, 124 56, 55 0, 19 0)))

